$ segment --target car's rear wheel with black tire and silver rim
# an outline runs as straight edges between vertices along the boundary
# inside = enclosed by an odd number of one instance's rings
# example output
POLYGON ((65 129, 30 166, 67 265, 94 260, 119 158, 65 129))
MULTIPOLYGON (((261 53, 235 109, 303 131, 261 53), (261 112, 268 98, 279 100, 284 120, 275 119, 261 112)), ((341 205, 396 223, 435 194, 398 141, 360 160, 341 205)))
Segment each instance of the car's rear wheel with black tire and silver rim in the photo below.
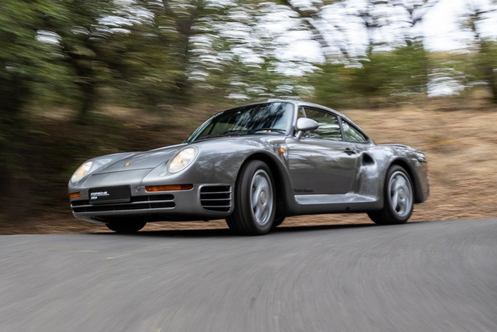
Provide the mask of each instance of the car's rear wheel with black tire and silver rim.
POLYGON ((403 167, 394 165, 388 170, 383 199, 383 209, 368 212, 369 218, 375 224, 396 225, 408 221, 413 213, 414 189, 411 177, 403 167), (397 198, 394 198, 396 195, 397 198))

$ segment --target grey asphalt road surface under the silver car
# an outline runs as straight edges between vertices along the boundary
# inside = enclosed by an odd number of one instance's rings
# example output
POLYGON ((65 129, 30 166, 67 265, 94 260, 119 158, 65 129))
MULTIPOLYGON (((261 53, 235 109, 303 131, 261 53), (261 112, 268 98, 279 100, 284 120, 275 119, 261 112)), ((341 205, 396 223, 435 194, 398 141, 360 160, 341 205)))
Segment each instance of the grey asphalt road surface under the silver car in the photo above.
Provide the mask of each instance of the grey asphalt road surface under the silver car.
POLYGON ((497 219, 0 237, 0 331, 497 331, 497 219))

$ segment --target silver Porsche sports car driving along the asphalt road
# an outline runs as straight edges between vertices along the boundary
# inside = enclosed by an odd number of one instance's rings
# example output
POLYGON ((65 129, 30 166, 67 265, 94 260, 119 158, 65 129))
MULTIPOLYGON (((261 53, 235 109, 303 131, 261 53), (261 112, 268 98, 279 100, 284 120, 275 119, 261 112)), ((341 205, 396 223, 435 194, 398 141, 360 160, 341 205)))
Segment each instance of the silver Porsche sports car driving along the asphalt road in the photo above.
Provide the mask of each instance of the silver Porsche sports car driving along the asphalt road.
POLYGON ((428 194, 422 152, 376 145, 344 115, 288 100, 219 112, 179 145, 92 158, 69 182, 74 216, 120 233, 226 219, 261 235, 287 216, 342 212, 401 224, 428 194))

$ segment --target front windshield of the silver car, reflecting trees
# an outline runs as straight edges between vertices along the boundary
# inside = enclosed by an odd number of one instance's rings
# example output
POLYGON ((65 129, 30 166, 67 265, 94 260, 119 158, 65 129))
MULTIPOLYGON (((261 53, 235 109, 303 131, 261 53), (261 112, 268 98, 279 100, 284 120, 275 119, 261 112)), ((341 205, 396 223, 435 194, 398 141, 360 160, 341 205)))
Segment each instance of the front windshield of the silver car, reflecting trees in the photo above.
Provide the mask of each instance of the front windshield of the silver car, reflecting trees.
POLYGON ((251 134, 286 135, 293 107, 288 102, 268 102, 232 108, 204 122, 185 143, 223 136, 251 134))

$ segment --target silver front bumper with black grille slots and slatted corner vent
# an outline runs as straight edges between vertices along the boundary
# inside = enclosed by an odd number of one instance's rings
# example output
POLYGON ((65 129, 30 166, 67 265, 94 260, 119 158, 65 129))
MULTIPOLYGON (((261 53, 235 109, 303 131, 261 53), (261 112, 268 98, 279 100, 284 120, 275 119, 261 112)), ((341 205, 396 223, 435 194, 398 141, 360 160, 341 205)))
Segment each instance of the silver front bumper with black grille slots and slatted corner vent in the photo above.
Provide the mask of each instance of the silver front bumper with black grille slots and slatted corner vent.
POLYGON ((233 188, 234 183, 202 183, 190 190, 147 192, 136 185, 129 202, 95 205, 89 203, 89 188, 83 188, 79 198, 71 199, 71 208, 76 218, 91 222, 223 219, 233 212, 233 188))

